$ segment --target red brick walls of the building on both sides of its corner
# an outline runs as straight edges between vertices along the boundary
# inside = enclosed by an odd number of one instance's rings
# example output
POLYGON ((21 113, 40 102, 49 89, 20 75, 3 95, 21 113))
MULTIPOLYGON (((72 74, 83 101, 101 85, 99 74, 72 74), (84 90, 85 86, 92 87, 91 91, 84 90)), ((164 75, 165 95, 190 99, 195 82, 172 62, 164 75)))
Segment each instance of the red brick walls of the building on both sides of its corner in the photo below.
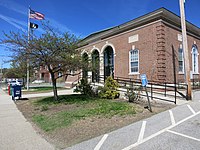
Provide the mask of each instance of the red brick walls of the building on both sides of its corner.
MULTIPOLYGON (((105 46, 106 43, 112 44, 116 52, 116 56, 114 57, 115 76, 139 78, 140 74, 145 73, 149 80, 173 82, 174 75, 171 46, 174 46, 175 53, 178 56, 178 48, 181 44, 181 42, 178 41, 178 33, 180 34, 181 32, 159 21, 138 28, 137 30, 128 31, 90 43, 82 47, 82 49, 91 54, 91 50, 94 48, 102 50, 102 47, 105 46), (139 41, 128 43, 128 37, 136 34, 139 35, 139 41), (139 75, 129 75, 129 50, 132 49, 132 45, 135 45, 135 48, 139 50, 139 75), (164 62, 162 65, 158 64, 161 60, 164 62)), ((196 41, 200 51, 200 40, 188 36, 190 63, 192 63, 191 48, 194 41, 196 41)), ((177 78, 183 79, 184 75, 178 74, 178 57, 176 58, 176 70, 177 78)))

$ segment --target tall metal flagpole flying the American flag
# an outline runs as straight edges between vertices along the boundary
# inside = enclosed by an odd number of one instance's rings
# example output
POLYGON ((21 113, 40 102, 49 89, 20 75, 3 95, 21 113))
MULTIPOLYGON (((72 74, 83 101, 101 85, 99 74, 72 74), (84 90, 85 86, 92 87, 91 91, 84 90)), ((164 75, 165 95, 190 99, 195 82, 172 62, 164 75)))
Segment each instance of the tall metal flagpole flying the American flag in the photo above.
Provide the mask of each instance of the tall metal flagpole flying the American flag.
MULTIPOLYGON (((28 8, 28 44, 29 44, 29 40, 30 40, 30 5, 29 5, 29 8, 28 8)), ((29 50, 29 49, 28 49, 29 50)), ((29 90, 29 76, 30 76, 30 71, 29 71, 29 58, 27 58, 27 81, 26 81, 26 88, 27 88, 27 91, 29 90)))

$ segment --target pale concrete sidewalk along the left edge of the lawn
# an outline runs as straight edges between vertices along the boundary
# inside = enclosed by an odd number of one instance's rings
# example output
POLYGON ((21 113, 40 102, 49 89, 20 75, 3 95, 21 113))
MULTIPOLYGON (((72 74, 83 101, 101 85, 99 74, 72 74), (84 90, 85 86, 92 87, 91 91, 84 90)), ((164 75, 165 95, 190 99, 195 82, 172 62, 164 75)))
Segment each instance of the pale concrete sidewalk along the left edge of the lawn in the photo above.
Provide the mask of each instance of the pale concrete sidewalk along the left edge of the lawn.
POLYGON ((0 89, 0 149, 53 150, 27 122, 10 96, 0 89))

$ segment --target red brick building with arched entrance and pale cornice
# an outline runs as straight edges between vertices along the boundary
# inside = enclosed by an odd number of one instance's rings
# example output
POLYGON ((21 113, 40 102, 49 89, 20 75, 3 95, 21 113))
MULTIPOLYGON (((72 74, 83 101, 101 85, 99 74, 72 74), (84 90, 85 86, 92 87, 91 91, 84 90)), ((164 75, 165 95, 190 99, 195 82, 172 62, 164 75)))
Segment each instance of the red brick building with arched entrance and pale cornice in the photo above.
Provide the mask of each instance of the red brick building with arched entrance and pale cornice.
MULTIPOLYGON (((187 35, 191 77, 198 78, 200 28, 187 22, 187 35)), ((98 75, 139 79, 146 74, 149 80, 173 83, 172 49, 176 78, 184 79, 181 19, 165 8, 93 33, 81 45, 82 57, 97 68, 83 72, 92 75, 93 81, 99 80, 98 75)))

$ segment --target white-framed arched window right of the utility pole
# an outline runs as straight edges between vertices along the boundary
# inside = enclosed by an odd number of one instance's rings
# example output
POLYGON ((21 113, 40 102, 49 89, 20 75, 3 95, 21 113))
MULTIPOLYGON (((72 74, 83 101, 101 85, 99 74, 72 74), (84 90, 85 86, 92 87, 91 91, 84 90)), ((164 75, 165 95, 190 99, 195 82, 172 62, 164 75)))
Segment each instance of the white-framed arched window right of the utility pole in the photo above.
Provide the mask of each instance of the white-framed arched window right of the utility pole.
POLYGON ((192 72, 199 73, 199 60, 198 60, 198 48, 197 45, 192 46, 192 72))

